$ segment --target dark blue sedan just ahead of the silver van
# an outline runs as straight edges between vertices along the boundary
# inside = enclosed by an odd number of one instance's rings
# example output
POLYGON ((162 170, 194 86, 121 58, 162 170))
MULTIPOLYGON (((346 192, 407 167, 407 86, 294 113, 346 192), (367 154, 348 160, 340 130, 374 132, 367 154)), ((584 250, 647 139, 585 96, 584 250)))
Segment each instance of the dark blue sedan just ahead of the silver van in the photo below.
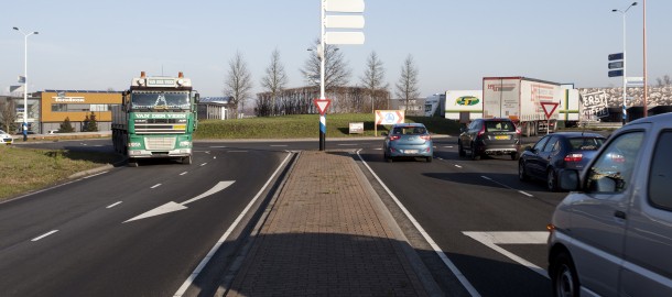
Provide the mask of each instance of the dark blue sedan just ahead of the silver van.
POLYGON ((557 190, 560 169, 581 172, 595 156, 606 138, 596 133, 557 132, 545 135, 533 146, 527 146, 518 162, 518 177, 546 182, 551 191, 557 190))

